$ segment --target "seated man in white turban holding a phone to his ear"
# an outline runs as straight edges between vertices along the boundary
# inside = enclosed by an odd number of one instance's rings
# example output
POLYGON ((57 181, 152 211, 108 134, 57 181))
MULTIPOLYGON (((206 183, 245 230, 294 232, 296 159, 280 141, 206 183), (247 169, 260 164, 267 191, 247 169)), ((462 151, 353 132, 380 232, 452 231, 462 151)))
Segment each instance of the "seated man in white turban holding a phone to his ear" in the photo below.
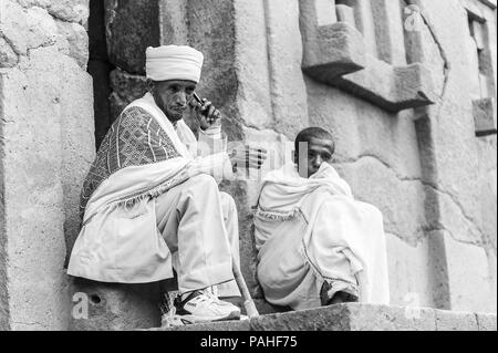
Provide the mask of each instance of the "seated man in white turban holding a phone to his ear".
POLYGON ((214 150, 224 146, 220 114, 207 100, 193 100, 203 61, 189 46, 147 48, 149 92, 122 112, 98 149, 68 268, 74 277, 120 283, 159 281, 176 270, 176 312, 190 323, 240 316, 216 295, 240 295, 232 276, 237 210, 216 179, 230 178, 241 160, 258 168, 264 158, 257 149, 214 150), (183 121, 189 107, 203 144, 183 121))

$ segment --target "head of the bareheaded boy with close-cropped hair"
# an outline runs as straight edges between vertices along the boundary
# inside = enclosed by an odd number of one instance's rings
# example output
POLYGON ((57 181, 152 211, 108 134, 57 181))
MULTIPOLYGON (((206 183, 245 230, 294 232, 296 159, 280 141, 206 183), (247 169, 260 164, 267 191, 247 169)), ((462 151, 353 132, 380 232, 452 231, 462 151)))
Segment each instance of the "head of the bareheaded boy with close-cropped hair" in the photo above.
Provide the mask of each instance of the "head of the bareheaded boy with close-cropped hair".
POLYGON ((332 163, 335 144, 332 134, 321 127, 309 127, 298 134, 294 141, 294 163, 299 175, 309 178, 322 163, 332 163))

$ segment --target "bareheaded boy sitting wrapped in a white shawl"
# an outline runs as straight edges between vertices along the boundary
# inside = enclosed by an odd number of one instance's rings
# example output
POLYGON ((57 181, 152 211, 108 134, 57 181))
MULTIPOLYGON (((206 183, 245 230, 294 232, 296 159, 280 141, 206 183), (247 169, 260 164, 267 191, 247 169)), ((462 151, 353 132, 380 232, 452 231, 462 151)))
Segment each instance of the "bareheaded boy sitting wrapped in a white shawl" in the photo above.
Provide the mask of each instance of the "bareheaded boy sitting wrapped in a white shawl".
POLYGON ((330 133, 307 128, 294 147, 294 164, 263 179, 255 215, 257 274, 266 299, 294 310, 387 304, 381 212, 354 200, 332 167, 330 133))

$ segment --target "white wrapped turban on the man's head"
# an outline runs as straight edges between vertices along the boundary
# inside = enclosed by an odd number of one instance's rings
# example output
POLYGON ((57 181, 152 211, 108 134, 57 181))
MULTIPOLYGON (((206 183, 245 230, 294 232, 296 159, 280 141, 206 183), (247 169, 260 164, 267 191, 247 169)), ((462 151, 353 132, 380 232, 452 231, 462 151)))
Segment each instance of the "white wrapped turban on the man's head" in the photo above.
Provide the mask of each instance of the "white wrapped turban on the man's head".
POLYGON ((145 71, 153 81, 188 80, 199 82, 204 55, 186 45, 148 46, 145 71))

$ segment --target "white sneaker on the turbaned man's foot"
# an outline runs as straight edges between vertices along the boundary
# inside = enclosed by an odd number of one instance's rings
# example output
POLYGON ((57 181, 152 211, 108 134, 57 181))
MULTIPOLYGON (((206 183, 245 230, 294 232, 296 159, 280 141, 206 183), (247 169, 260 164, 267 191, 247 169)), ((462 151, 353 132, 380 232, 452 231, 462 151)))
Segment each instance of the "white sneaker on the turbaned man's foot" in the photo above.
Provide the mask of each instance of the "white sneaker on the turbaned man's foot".
POLYGON ((176 315, 187 324, 240 319, 238 307, 219 300, 209 290, 194 291, 184 301, 178 295, 175 308, 176 315))

